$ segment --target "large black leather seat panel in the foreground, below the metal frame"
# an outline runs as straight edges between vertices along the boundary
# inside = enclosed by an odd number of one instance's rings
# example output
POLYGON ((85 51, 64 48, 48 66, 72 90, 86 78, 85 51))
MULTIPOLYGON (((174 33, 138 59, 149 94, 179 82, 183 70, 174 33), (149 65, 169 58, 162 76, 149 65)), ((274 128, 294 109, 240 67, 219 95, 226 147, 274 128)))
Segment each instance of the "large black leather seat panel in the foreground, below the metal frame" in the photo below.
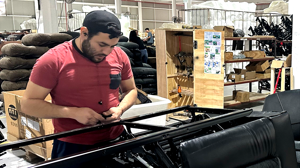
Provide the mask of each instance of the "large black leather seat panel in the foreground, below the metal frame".
POLYGON ((276 157, 272 122, 261 118, 180 144, 183 168, 236 168, 276 157))

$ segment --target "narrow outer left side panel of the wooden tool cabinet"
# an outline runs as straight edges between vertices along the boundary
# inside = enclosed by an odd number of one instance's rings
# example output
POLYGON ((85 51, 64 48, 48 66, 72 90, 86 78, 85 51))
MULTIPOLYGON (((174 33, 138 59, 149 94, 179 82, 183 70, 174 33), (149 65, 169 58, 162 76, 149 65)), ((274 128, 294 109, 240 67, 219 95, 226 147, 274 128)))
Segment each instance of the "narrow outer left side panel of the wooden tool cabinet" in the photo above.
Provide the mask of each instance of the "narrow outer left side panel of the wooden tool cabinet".
POLYGON ((166 32, 156 30, 156 67, 157 67, 157 95, 168 98, 167 88, 167 52, 166 52, 166 32))

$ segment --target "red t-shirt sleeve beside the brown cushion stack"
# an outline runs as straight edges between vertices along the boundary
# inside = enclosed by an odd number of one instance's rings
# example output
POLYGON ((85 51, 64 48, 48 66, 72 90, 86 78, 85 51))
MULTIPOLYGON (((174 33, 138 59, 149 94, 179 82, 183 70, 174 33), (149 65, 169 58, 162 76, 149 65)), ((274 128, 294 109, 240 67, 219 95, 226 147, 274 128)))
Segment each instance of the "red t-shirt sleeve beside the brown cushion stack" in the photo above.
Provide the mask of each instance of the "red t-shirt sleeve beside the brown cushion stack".
POLYGON ((29 80, 41 87, 53 89, 58 79, 58 59, 53 50, 38 58, 34 64, 29 80))

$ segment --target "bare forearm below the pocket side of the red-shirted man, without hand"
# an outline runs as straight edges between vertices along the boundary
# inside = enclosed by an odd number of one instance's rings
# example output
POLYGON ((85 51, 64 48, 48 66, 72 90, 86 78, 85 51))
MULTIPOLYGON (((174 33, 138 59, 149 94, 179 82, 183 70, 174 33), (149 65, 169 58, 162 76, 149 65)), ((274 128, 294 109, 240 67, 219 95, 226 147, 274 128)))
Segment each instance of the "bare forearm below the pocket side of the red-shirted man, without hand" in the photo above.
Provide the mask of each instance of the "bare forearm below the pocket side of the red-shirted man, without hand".
POLYGON ((120 102, 119 107, 123 109, 124 113, 124 111, 128 110, 135 103, 137 99, 137 91, 136 88, 134 88, 124 92, 123 94, 125 94, 125 96, 120 102))

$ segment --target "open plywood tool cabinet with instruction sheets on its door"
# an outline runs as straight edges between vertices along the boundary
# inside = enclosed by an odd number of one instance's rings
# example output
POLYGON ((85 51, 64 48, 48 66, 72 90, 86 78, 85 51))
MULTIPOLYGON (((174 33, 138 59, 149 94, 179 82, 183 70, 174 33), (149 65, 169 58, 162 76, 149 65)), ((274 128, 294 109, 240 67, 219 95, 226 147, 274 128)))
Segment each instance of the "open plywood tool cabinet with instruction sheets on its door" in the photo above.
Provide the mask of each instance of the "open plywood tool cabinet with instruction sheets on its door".
POLYGON ((198 107, 224 106, 224 31, 202 29, 156 29, 158 95, 170 99, 168 108, 196 104, 198 107), (221 32, 221 71, 204 73, 204 32, 221 32), (181 44, 181 45, 180 45, 181 44), (180 47, 181 46, 181 47, 180 47), (181 51, 185 54, 176 56, 181 51), (188 74, 187 67, 192 74, 188 74), (182 97, 177 87, 182 89, 182 97))

